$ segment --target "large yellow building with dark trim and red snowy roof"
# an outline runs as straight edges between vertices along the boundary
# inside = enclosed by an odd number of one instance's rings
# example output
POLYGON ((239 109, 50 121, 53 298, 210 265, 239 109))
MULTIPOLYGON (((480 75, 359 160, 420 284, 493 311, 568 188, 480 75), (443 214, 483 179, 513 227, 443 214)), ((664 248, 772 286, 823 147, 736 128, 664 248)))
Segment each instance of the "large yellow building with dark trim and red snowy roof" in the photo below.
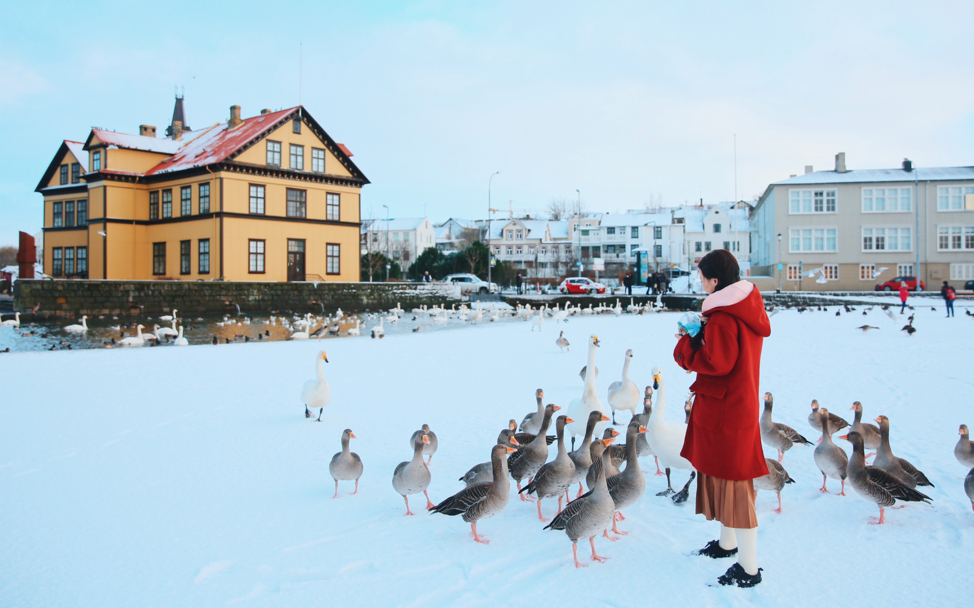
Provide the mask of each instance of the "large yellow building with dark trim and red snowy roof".
POLYGON ((369 181, 298 106, 168 137, 94 128, 64 141, 44 196, 44 272, 56 278, 357 281, 369 181))

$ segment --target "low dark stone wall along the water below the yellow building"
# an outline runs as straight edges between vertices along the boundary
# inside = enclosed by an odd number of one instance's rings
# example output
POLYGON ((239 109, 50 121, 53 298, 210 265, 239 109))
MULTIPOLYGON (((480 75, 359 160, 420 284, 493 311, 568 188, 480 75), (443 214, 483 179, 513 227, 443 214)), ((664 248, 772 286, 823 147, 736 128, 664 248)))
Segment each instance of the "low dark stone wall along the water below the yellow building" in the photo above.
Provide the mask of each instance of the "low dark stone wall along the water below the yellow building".
POLYGON ((292 310, 380 310, 396 303, 460 304, 458 285, 446 283, 258 283, 230 281, 19 280, 14 307, 36 316, 187 314, 292 310))

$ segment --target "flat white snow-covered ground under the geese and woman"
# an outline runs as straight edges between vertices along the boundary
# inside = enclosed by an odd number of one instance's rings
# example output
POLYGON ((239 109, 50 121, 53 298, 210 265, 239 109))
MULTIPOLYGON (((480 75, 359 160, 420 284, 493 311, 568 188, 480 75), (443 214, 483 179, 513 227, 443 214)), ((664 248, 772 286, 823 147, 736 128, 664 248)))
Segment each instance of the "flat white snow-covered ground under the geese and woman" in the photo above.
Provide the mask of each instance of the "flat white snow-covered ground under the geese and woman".
MULTIPOLYGON (((936 487, 932 507, 911 504, 867 525, 875 505, 852 491, 820 494, 812 448, 794 447, 784 465, 797 483, 782 492, 783 513, 771 512, 773 493, 758 497, 765 582, 753 590, 707 587, 731 561, 690 553, 716 538, 717 524, 693 514, 693 498, 657 498, 664 478, 648 477, 625 513, 628 536, 596 541, 611 559, 581 570, 565 534, 542 530, 534 503, 512 499, 483 520, 484 546, 462 519, 419 511, 417 497, 417 516, 402 517, 393 491, 393 468, 424 422, 439 438, 438 502, 488 459, 508 418, 534 410, 536 388, 567 406, 581 394, 590 333, 602 342, 601 398, 632 348, 633 379, 651 382, 660 365, 669 417, 682 419, 693 376, 672 360, 678 313, 548 321, 541 333, 504 323, 329 340, 334 400, 321 423, 306 420, 298 400, 314 376, 314 340, 4 355, 0 604, 954 604, 967 596, 974 548, 966 471, 953 455, 957 425, 974 424, 974 322, 961 309, 944 319, 938 307, 918 308, 912 338, 898 331, 904 317, 879 308, 771 318, 762 389, 775 395, 776 419, 814 441, 811 399, 843 416, 861 401, 868 418, 889 416, 895 452, 936 487), (863 335, 863 323, 881 329, 863 335), (561 329, 571 353, 554 345, 561 329), (342 483, 332 500, 327 465, 346 427, 365 472, 356 496, 342 483)), ((544 506, 550 517, 553 501, 544 506)))

